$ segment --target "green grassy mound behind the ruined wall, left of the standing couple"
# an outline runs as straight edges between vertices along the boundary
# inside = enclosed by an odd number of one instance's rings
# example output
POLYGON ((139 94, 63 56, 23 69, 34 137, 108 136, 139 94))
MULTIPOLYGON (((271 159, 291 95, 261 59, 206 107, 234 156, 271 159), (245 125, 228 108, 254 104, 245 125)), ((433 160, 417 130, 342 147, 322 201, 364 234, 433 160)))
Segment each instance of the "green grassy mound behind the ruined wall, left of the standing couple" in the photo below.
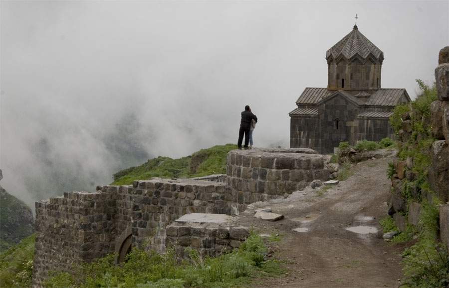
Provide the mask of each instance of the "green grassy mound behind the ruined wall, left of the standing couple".
POLYGON ((111 185, 131 185, 133 181, 147 180, 152 177, 194 178, 213 174, 225 174, 227 152, 236 148, 237 145, 234 144, 217 145, 195 152, 192 156, 179 159, 162 156, 153 158, 141 166, 117 172, 114 174, 114 182, 111 185), (199 164, 196 173, 191 173, 191 161, 197 157, 206 158, 206 160, 199 164))

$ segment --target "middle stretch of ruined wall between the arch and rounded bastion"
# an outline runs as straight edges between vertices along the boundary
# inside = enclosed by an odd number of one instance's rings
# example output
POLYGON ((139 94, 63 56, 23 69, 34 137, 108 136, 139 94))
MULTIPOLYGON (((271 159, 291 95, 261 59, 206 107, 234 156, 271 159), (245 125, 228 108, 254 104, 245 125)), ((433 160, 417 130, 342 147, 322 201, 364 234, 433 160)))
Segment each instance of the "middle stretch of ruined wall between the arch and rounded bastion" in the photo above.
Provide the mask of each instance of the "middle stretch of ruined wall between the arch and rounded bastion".
MULTIPOLYGON (((165 228, 184 214, 233 214, 232 191, 225 183, 150 180, 134 183, 132 243, 165 249, 165 228)), ((243 207, 241 207, 243 208, 243 207)))

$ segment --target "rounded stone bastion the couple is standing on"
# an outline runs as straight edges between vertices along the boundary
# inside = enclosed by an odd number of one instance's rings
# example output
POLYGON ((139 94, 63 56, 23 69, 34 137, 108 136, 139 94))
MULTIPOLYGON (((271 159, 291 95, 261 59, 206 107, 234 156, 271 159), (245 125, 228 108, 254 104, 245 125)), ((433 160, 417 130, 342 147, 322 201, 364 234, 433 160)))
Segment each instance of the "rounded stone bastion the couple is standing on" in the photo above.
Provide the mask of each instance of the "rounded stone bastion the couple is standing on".
POLYGON ((233 150, 227 154, 227 184, 235 203, 249 204, 302 190, 315 179, 327 181, 326 157, 307 148, 233 150))

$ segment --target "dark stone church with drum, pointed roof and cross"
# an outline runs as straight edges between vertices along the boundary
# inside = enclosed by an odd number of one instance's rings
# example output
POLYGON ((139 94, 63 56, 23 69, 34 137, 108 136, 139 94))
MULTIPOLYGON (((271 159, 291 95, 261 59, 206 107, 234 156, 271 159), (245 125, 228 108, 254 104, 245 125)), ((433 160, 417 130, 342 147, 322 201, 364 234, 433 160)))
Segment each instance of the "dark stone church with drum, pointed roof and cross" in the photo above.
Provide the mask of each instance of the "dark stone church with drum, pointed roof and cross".
POLYGON ((290 115, 290 147, 333 153, 340 142, 394 138, 393 108, 410 102, 405 89, 381 88, 384 53, 354 25, 326 52, 327 88, 309 88, 290 115))

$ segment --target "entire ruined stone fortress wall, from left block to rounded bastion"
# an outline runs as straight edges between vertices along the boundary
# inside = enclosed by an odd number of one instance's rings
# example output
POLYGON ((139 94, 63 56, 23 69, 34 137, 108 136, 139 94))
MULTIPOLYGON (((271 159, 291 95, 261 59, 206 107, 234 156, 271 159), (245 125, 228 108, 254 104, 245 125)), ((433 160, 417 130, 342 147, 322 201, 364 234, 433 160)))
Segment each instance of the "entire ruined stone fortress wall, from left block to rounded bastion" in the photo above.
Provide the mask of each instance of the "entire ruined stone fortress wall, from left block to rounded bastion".
POLYGON ((190 246, 211 256, 238 247, 247 228, 175 220, 192 213, 230 219, 250 203, 283 197, 313 180, 329 180, 335 173, 329 156, 315 153, 303 148, 232 150, 225 175, 99 186, 93 193, 66 192, 38 201, 33 285, 47 278, 48 271, 69 271, 72 263, 111 253, 123 261, 132 247, 163 251, 176 242, 180 252, 190 246))

